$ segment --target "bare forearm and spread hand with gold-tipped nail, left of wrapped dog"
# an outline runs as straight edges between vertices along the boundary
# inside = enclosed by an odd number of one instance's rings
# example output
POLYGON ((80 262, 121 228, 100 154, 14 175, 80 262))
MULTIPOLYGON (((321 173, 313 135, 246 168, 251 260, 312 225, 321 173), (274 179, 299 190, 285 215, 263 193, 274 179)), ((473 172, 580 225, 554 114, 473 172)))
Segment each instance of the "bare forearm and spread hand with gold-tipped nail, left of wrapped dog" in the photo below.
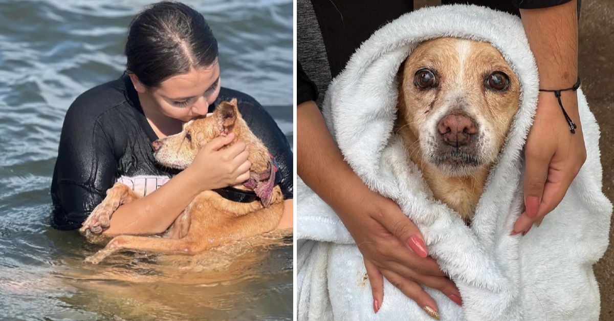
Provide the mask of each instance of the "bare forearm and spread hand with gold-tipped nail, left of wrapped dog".
POLYGON ((343 160, 316 104, 299 105, 297 119, 298 175, 335 210, 356 241, 371 283, 373 310, 383 303, 383 277, 423 308, 438 311, 421 284, 460 304, 454 282, 427 257, 418 228, 394 201, 371 191, 343 160))

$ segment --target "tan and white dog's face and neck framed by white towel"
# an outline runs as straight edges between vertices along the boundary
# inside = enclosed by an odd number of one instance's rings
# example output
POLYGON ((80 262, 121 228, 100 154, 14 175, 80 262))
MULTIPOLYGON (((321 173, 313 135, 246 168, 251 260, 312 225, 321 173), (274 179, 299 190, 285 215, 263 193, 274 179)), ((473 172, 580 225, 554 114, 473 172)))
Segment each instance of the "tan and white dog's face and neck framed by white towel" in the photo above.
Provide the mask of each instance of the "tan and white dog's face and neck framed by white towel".
POLYGON ((426 41, 400 68, 394 131, 434 196, 465 221, 473 218, 519 92, 516 74, 487 42, 426 41))

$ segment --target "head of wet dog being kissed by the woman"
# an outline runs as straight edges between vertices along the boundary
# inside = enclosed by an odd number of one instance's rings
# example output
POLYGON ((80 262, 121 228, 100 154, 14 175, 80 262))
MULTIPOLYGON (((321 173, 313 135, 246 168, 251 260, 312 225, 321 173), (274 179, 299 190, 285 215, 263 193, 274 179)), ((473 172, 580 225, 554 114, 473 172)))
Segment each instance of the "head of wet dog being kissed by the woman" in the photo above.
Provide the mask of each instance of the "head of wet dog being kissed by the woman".
POLYGON ((213 138, 230 132, 238 135, 235 127, 239 125, 239 119, 241 114, 236 99, 222 101, 213 113, 186 122, 180 133, 154 141, 153 157, 162 165, 183 170, 192 164, 200 148, 213 138))

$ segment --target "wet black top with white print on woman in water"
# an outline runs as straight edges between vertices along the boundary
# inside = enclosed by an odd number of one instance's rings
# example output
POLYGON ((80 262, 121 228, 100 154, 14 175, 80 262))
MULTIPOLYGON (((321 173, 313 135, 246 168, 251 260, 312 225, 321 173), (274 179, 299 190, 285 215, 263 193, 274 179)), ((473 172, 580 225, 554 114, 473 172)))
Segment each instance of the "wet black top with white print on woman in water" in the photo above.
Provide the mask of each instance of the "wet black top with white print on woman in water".
MULTIPOLYGON (((222 87, 209 112, 232 98, 237 98, 247 125, 275 157, 284 199, 292 199, 292 150, 286 136, 254 98, 236 90, 222 87)), ((175 175, 177 171, 160 167, 153 159, 152 142, 157 139, 126 74, 77 97, 64 118, 53 170, 52 226, 80 228, 118 179, 146 177, 145 188, 153 183, 155 189, 175 175)))

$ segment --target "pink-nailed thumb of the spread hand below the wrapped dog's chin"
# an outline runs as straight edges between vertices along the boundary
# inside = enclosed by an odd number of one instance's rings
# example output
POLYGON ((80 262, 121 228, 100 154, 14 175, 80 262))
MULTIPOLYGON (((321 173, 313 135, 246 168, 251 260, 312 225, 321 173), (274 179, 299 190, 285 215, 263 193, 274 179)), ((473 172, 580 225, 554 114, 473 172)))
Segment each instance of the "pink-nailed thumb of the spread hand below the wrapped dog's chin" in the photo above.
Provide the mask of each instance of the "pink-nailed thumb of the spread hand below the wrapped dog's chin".
POLYGON ((426 258, 429 255, 418 226, 401 212, 394 201, 388 199, 386 207, 381 208, 379 214, 374 218, 418 256, 426 258))

